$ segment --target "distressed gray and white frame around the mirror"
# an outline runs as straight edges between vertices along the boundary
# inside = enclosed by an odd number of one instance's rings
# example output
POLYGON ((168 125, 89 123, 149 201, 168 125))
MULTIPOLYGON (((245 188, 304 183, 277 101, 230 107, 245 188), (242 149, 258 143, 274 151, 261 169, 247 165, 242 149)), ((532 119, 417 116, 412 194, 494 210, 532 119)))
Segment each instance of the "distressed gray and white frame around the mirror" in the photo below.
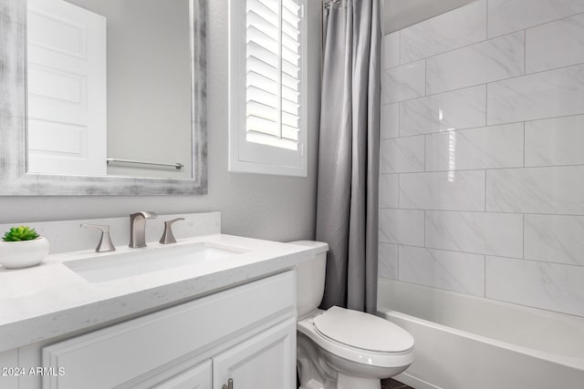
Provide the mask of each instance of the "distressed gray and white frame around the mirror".
POLYGON ((207 194, 206 1, 190 0, 193 179, 149 179, 26 172, 26 0, 0 0, 0 196, 207 194))

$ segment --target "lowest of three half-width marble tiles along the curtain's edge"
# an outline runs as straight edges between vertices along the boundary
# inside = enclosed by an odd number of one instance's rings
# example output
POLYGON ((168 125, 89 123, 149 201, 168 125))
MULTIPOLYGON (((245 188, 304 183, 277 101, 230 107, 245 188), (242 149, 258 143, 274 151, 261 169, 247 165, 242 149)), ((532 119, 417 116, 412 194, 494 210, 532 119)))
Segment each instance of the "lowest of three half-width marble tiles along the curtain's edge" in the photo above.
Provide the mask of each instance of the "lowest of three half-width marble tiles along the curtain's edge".
POLYGON ((423 210, 380 210, 380 241, 423 246, 423 222, 423 210))

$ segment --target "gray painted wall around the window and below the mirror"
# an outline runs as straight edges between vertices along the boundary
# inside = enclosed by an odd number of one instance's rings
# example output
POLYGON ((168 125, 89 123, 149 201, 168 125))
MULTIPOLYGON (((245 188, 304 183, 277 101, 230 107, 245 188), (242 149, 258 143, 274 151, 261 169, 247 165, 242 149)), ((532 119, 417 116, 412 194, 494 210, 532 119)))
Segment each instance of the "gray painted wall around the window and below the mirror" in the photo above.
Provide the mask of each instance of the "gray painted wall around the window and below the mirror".
POLYGON ((314 238, 320 96, 320 2, 309 4, 308 179, 227 172, 227 0, 209 0, 209 194, 201 197, 0 198, 0 222, 221 210, 223 231, 287 241, 314 238))

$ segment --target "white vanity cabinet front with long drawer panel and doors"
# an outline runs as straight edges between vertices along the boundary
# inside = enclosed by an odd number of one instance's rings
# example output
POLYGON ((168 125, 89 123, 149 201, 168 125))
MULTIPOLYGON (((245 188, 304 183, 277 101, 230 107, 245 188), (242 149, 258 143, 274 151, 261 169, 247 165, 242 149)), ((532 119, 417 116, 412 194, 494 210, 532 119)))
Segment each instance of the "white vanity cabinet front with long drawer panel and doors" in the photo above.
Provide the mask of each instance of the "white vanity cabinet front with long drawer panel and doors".
POLYGON ((293 389, 295 304, 287 271, 50 344, 42 387, 293 389))

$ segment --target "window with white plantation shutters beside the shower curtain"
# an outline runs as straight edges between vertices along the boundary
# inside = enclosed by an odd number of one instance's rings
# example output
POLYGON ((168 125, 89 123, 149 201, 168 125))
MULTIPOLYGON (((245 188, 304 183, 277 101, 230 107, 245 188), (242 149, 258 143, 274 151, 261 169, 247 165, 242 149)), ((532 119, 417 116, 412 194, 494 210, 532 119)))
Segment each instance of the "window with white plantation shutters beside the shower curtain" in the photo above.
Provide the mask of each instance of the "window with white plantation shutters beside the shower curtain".
POLYGON ((230 1, 230 171, 307 177, 306 1, 230 1))

